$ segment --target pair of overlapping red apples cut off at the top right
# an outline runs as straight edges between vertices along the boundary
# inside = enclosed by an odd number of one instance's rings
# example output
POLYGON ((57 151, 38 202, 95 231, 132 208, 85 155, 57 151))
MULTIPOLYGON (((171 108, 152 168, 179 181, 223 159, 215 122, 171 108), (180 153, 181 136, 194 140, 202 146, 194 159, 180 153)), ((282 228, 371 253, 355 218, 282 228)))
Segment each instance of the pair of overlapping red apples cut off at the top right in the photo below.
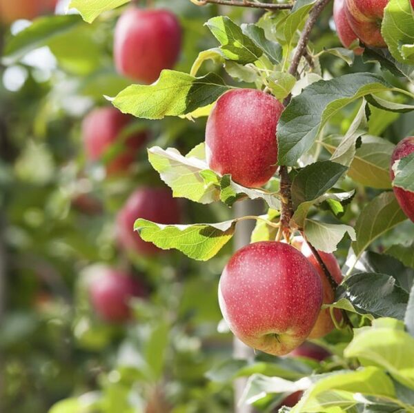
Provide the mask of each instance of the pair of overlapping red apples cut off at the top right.
MULTIPOLYGON (((388 0, 334 0, 333 19, 339 39, 349 48, 359 39, 365 46, 386 48, 381 34, 384 8, 388 0)), ((414 0, 411 0, 414 8, 414 0)), ((356 48, 362 54, 363 48, 356 48)))

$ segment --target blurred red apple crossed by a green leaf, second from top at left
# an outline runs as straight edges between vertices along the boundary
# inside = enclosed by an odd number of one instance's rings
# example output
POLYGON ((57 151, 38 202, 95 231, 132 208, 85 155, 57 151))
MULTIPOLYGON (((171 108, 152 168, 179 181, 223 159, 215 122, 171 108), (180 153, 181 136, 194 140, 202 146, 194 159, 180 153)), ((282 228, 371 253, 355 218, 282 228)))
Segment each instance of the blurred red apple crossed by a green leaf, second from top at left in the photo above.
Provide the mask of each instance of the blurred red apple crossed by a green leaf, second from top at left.
MULTIPOLYGON (((134 119, 119 110, 106 107, 92 110, 82 124, 83 143, 90 161, 99 160, 112 144, 121 139, 122 130, 134 119)), ((148 138, 147 132, 130 134, 122 143, 124 148, 106 165, 107 174, 126 172, 148 138)))

